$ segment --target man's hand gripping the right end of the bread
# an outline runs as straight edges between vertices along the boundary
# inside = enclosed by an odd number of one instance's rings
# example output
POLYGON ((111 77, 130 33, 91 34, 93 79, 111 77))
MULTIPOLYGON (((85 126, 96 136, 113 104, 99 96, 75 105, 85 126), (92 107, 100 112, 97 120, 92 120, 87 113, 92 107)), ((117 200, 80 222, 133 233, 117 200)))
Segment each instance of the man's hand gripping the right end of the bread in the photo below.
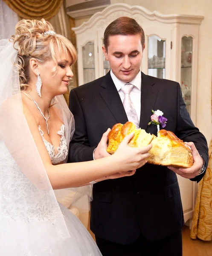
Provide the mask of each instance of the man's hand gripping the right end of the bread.
POLYGON ((203 166, 203 158, 200 156, 193 142, 187 142, 186 144, 189 145, 192 149, 192 157, 194 160, 194 164, 192 165, 192 167, 175 168, 175 167, 168 166, 168 169, 170 169, 171 171, 177 173, 178 175, 186 179, 192 179, 200 173, 200 170, 203 166))

